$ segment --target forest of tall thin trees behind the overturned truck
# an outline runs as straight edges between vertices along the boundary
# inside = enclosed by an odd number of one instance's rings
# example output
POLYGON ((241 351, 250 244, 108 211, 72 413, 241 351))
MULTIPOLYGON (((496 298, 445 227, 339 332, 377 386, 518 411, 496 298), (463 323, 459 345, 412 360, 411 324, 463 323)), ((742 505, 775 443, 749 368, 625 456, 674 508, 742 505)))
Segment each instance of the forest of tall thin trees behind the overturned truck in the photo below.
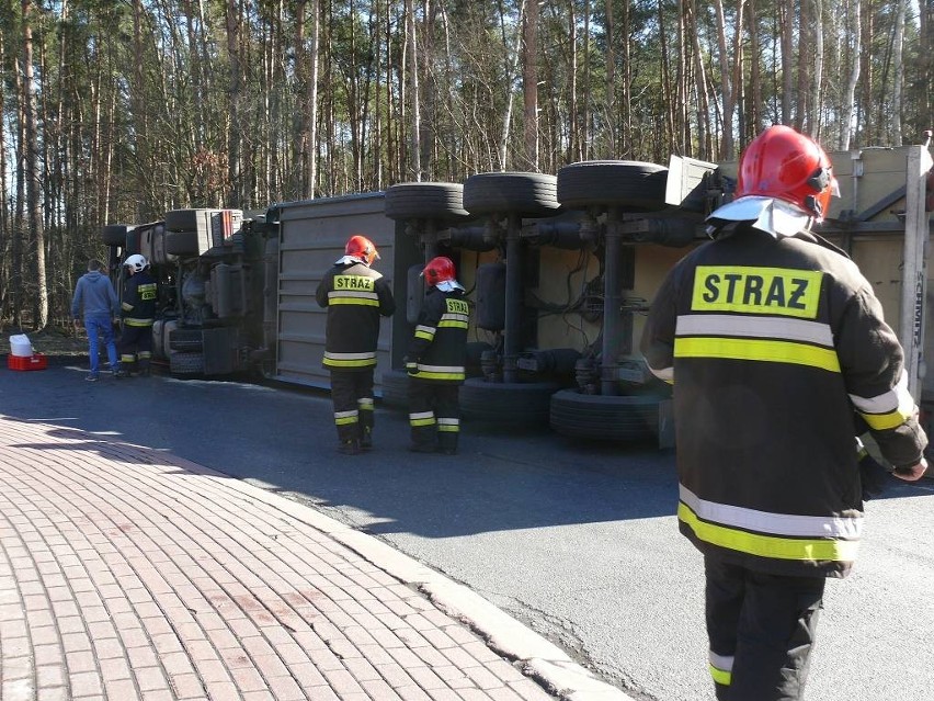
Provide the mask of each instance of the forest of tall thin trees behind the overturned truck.
POLYGON ((67 319, 105 224, 921 143, 934 0, 7 0, 0 328, 67 319))

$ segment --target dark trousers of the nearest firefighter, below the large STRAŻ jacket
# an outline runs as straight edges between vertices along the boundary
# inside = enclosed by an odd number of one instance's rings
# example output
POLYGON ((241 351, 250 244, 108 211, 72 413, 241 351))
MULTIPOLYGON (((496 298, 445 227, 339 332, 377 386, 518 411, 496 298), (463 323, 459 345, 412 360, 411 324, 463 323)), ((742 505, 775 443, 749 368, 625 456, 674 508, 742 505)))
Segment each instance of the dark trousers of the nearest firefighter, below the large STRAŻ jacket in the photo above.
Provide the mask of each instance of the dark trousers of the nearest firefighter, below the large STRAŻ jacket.
POLYGON ((802 699, 827 580, 766 575, 711 556, 704 565, 717 699, 802 699))

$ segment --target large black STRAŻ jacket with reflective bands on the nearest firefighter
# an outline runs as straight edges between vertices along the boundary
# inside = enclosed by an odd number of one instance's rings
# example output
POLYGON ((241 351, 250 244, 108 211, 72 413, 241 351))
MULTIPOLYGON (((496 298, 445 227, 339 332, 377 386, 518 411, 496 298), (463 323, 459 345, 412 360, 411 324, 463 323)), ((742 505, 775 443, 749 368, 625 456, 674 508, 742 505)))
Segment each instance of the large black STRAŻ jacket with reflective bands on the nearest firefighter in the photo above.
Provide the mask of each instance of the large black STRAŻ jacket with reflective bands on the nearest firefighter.
POLYGON ((895 466, 927 443, 857 267, 740 226, 670 271, 641 349, 674 383, 681 532, 752 569, 845 576, 863 528, 854 408, 895 466))

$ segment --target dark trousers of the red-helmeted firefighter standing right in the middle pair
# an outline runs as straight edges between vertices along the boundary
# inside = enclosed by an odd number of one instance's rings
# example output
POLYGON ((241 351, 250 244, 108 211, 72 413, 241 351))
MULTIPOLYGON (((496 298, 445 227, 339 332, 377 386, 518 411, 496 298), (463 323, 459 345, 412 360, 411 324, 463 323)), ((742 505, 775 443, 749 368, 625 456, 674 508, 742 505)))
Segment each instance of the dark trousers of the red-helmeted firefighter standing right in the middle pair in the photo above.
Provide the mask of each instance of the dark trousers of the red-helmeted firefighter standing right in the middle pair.
POLYGON ((412 443, 457 450, 460 436, 460 385, 409 377, 409 427, 412 443))

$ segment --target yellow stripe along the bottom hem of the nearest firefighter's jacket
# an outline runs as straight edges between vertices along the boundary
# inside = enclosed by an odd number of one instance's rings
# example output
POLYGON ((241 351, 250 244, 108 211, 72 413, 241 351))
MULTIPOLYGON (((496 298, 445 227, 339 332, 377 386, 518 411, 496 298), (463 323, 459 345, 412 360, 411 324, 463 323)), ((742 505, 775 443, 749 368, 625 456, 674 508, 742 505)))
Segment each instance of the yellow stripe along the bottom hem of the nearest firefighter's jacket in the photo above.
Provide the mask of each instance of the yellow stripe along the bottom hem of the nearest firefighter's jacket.
POLYGON ((760 557, 801 562, 854 562, 859 550, 858 541, 779 538, 707 523, 698 519, 683 501, 677 505, 677 519, 705 543, 760 557))

